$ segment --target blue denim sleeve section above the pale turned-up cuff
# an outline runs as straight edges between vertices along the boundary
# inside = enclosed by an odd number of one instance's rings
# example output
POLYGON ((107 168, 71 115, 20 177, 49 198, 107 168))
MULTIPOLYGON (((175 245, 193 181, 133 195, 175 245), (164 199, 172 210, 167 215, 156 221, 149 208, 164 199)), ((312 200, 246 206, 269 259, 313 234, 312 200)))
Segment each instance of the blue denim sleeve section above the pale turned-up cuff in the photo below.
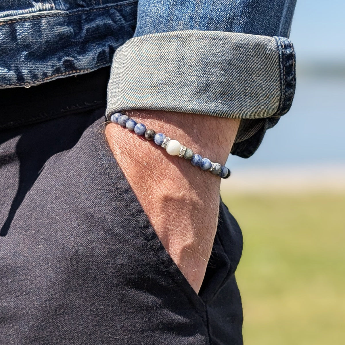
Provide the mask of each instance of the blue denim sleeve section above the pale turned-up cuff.
POLYGON ((289 37, 296 0, 139 0, 135 36, 211 30, 289 37))

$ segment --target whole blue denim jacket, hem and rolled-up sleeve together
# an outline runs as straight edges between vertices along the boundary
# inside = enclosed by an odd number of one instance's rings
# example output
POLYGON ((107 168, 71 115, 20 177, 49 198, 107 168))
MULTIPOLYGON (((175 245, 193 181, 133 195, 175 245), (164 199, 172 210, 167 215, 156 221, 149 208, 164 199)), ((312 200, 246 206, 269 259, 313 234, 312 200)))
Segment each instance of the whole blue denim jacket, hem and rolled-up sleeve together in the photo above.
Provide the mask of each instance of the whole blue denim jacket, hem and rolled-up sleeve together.
MULTIPOLYGON (((249 157, 290 108, 296 0, 2 0, 0 88, 112 65, 106 114, 240 118, 249 157)), ((0 115, 1 116, 1 115, 0 115)))

